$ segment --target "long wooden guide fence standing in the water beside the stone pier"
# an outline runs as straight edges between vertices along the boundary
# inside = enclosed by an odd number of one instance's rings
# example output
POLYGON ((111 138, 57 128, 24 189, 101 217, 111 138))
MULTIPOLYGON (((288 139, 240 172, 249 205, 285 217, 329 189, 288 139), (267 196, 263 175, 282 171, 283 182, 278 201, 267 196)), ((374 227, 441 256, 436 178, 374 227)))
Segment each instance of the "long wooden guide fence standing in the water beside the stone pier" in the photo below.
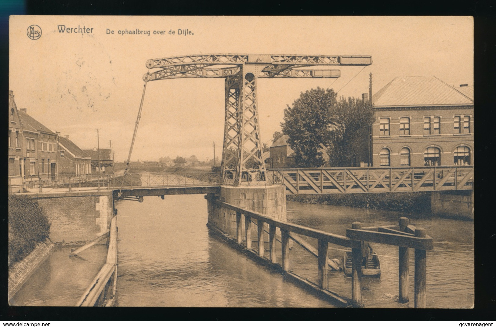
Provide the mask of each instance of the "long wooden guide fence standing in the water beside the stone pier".
MULTIPOLYGON (((400 276, 399 292, 400 302, 408 302, 408 248, 415 249, 415 308, 425 308, 426 305, 426 250, 433 249, 433 239, 425 234, 422 228, 408 225, 408 219, 402 217, 399 225, 388 225, 379 227, 364 227, 360 222, 352 224, 352 228, 347 230, 347 236, 324 232, 321 230, 305 227, 290 222, 280 221, 269 216, 265 216, 254 211, 240 208, 226 202, 222 202, 214 196, 206 196, 214 204, 236 212, 236 236, 230 237, 211 223, 208 227, 223 235, 232 245, 244 251, 249 257, 257 262, 267 264, 276 270, 281 271, 292 281, 311 288, 323 295, 328 300, 339 306, 362 306, 362 246, 363 241, 389 244, 398 246, 400 249, 400 276), (242 219, 244 216, 245 230, 243 230, 242 219), (405 222, 404 219, 407 219, 405 222), (252 249, 251 224, 256 221, 257 228, 257 249, 252 249), (264 257, 265 252, 265 225, 269 229, 269 258, 264 257), (276 251, 276 228, 281 230, 281 264, 277 263, 276 251), (412 234, 412 232, 414 234, 412 234), (243 244, 243 234, 245 234, 246 244, 243 244), (300 237, 294 234, 304 235, 317 240, 317 269, 318 281, 313 283, 303 276, 299 276, 289 269, 290 245, 289 240, 293 239, 302 245, 300 237), (352 249, 352 287, 351 299, 330 291, 328 288, 328 244, 340 245, 352 249), (405 250, 406 249, 406 250, 405 250)), ((303 246, 303 245, 302 245, 303 246)), ((305 246, 303 246, 306 248, 305 246)), ((306 249, 309 250, 309 249, 306 249)), ((311 251, 310 251, 311 252, 311 251)))

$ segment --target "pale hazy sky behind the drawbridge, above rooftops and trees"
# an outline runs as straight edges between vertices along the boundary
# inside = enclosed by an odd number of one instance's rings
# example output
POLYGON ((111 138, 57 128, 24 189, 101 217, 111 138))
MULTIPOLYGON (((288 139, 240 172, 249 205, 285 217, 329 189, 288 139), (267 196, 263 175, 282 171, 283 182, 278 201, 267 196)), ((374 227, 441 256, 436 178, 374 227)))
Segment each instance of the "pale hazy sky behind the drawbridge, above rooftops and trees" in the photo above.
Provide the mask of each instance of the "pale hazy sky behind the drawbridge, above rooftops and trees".
MULTIPOLYGON (((193 54, 371 55, 369 66, 331 66, 339 78, 259 78, 260 138, 270 144, 284 109, 317 86, 361 97, 397 76, 473 85, 473 18, 464 16, 10 16, 9 90, 17 108, 80 148, 127 159, 148 59, 193 54), (27 36, 36 24, 41 37, 27 36), (84 28, 60 32, 59 25, 84 28), (92 30, 91 30, 92 28, 92 30), (150 31, 120 34, 122 30, 150 31), (169 34, 169 31, 175 34, 169 34), (188 30, 191 34, 178 31, 188 30), (78 30, 79 31, 79 30, 78 30), (112 34, 112 31, 114 33, 112 34), (154 34, 164 31, 164 34, 154 34)), ((131 160, 221 157, 224 79, 147 83, 131 160)))

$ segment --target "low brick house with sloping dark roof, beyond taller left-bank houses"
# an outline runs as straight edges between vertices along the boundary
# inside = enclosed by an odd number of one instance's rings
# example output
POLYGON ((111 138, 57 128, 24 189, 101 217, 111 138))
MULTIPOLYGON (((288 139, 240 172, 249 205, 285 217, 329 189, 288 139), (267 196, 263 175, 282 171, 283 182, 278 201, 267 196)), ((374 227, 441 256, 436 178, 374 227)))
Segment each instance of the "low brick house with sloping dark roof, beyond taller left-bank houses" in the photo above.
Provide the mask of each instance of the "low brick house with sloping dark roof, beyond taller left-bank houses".
POLYGON ((59 136, 59 173, 76 176, 91 174, 91 156, 74 144, 69 135, 59 136))

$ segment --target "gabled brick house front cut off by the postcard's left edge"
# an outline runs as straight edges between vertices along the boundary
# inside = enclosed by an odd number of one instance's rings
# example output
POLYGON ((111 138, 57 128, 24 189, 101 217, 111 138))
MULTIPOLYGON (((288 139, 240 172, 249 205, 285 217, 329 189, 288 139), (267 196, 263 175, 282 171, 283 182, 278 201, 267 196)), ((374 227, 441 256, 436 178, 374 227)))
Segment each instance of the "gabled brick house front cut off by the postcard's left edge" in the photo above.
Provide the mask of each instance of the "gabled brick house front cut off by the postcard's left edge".
POLYGON ((8 177, 11 184, 24 178, 24 153, 22 123, 14 101, 14 92, 8 91, 8 177))

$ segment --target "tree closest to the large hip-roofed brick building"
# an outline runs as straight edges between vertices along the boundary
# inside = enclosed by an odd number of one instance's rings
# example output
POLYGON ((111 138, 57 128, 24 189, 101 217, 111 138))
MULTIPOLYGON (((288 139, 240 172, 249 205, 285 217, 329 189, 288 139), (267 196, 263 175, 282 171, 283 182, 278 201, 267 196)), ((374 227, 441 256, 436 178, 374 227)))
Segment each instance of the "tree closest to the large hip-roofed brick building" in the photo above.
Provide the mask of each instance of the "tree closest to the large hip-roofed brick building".
POLYGON ((374 122, 370 102, 341 97, 331 110, 331 140, 327 148, 329 164, 348 167, 356 159, 368 161, 369 129, 374 122))

